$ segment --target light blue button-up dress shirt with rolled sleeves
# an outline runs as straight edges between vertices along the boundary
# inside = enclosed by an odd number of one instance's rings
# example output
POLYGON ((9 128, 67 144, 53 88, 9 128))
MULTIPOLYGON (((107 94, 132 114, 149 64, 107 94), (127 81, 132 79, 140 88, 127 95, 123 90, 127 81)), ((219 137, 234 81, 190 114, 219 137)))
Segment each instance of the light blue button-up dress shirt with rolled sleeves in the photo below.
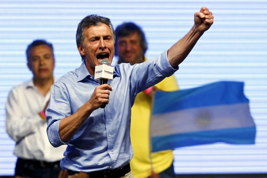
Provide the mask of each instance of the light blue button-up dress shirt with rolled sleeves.
POLYGON ((47 135, 54 147, 67 144, 62 169, 72 171, 101 171, 126 166, 132 156, 130 140, 131 107, 136 94, 171 76, 173 69, 167 51, 157 58, 131 66, 116 65, 109 104, 96 109, 68 142, 61 142, 59 122, 76 112, 91 97, 100 83, 90 75, 85 63, 63 75, 55 82, 50 104, 46 110, 47 135))

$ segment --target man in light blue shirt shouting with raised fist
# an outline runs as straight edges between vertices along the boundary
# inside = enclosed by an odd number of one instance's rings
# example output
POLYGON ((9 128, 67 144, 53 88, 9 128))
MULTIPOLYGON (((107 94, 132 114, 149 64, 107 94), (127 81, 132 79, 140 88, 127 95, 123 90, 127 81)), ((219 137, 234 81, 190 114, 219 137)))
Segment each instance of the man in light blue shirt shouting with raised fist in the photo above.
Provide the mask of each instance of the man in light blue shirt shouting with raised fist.
POLYGON ((177 71, 212 23, 212 12, 202 7, 195 13, 192 29, 169 50, 144 63, 115 66, 110 85, 100 85, 94 80, 95 66, 102 59, 112 62, 115 32, 108 18, 89 15, 82 19, 76 42, 83 63, 54 84, 46 110, 50 143, 68 145, 61 168, 70 175, 87 172, 90 178, 133 177, 130 123, 136 94, 177 71), (101 109, 103 103, 108 104, 101 109))

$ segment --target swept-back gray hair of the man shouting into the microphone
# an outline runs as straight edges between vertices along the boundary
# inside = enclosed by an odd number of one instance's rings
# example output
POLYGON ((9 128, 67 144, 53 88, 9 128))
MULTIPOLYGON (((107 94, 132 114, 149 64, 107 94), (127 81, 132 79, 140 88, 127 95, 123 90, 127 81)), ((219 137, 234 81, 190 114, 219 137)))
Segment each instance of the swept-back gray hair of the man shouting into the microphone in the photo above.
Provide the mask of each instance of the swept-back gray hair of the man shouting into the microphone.
MULTIPOLYGON (((77 27, 77 32, 76 32, 76 44, 77 44, 77 46, 83 44, 83 41, 85 39, 84 30, 86 28, 89 28, 90 26, 99 26, 99 25, 101 25, 101 23, 106 24, 110 28, 113 39, 114 39, 114 43, 115 43, 115 38, 116 38, 115 37, 115 31, 114 31, 114 28, 111 24, 110 19, 93 14, 93 15, 86 16, 85 18, 83 18, 80 21, 80 23, 77 27)), ((82 61, 83 61, 85 56, 81 55, 81 57, 82 57, 82 61)))

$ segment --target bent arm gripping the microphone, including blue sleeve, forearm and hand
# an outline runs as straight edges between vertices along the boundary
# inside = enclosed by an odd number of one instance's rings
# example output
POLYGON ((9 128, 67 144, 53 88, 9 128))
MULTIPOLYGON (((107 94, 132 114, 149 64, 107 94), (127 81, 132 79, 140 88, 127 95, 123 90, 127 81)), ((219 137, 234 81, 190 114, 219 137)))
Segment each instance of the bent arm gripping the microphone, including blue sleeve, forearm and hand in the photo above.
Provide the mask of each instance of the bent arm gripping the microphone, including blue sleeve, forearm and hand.
POLYGON ((47 136, 50 143, 54 147, 67 144, 92 112, 100 108, 101 104, 109 102, 109 91, 112 91, 110 85, 98 85, 90 99, 73 113, 69 93, 56 83, 46 110, 47 136))

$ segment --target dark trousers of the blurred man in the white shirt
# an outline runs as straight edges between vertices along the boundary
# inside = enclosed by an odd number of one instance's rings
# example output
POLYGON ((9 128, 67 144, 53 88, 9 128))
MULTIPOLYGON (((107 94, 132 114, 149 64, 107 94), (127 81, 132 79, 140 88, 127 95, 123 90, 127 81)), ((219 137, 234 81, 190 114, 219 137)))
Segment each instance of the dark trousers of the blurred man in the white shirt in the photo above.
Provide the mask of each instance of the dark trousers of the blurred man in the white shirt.
POLYGON ((15 176, 32 178, 58 178, 61 170, 60 161, 45 162, 37 160, 24 160, 18 158, 15 168, 15 176))

